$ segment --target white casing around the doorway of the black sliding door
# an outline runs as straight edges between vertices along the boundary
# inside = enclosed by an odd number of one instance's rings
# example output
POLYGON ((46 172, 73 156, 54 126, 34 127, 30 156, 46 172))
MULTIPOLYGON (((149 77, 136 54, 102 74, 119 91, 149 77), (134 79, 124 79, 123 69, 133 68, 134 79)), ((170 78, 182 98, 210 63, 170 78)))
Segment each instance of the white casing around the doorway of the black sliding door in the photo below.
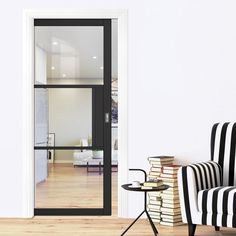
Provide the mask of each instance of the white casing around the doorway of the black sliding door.
POLYGON ((23 202, 22 217, 34 216, 34 19, 79 18, 118 19, 118 216, 128 217, 128 194, 121 185, 128 181, 128 103, 127 103, 127 10, 30 10, 23 11, 23 202), (122 138, 121 138, 122 137, 122 138))

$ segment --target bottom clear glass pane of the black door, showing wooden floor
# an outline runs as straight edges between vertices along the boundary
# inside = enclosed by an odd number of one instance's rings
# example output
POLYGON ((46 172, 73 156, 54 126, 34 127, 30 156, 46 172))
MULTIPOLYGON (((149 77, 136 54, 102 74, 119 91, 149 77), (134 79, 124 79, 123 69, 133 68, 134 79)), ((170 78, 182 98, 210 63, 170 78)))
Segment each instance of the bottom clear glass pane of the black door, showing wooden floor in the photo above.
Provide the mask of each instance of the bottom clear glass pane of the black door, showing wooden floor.
POLYGON ((35 208, 103 208, 103 151, 96 152, 56 150, 52 163, 36 150, 35 208))

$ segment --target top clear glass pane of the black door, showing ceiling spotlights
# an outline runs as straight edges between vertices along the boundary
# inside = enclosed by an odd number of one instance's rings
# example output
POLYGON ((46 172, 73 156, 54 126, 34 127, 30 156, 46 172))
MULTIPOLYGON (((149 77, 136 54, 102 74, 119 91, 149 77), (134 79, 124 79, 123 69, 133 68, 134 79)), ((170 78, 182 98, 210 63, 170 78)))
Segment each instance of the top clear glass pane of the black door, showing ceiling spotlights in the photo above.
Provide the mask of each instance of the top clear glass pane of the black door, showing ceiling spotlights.
POLYGON ((103 84, 103 26, 35 26, 36 84, 103 84))

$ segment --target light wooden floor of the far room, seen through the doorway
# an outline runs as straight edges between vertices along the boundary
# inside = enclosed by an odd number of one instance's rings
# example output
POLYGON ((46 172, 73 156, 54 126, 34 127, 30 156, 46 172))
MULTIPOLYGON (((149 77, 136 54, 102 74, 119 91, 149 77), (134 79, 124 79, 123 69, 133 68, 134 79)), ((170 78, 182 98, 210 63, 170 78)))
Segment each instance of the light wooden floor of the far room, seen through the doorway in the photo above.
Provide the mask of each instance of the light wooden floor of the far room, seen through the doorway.
MULTIPOLYGON (((117 199, 117 173, 113 174, 113 197, 117 199)), ((87 173, 72 164, 51 164, 47 181, 37 184, 36 208, 102 208, 103 175, 87 173)))

